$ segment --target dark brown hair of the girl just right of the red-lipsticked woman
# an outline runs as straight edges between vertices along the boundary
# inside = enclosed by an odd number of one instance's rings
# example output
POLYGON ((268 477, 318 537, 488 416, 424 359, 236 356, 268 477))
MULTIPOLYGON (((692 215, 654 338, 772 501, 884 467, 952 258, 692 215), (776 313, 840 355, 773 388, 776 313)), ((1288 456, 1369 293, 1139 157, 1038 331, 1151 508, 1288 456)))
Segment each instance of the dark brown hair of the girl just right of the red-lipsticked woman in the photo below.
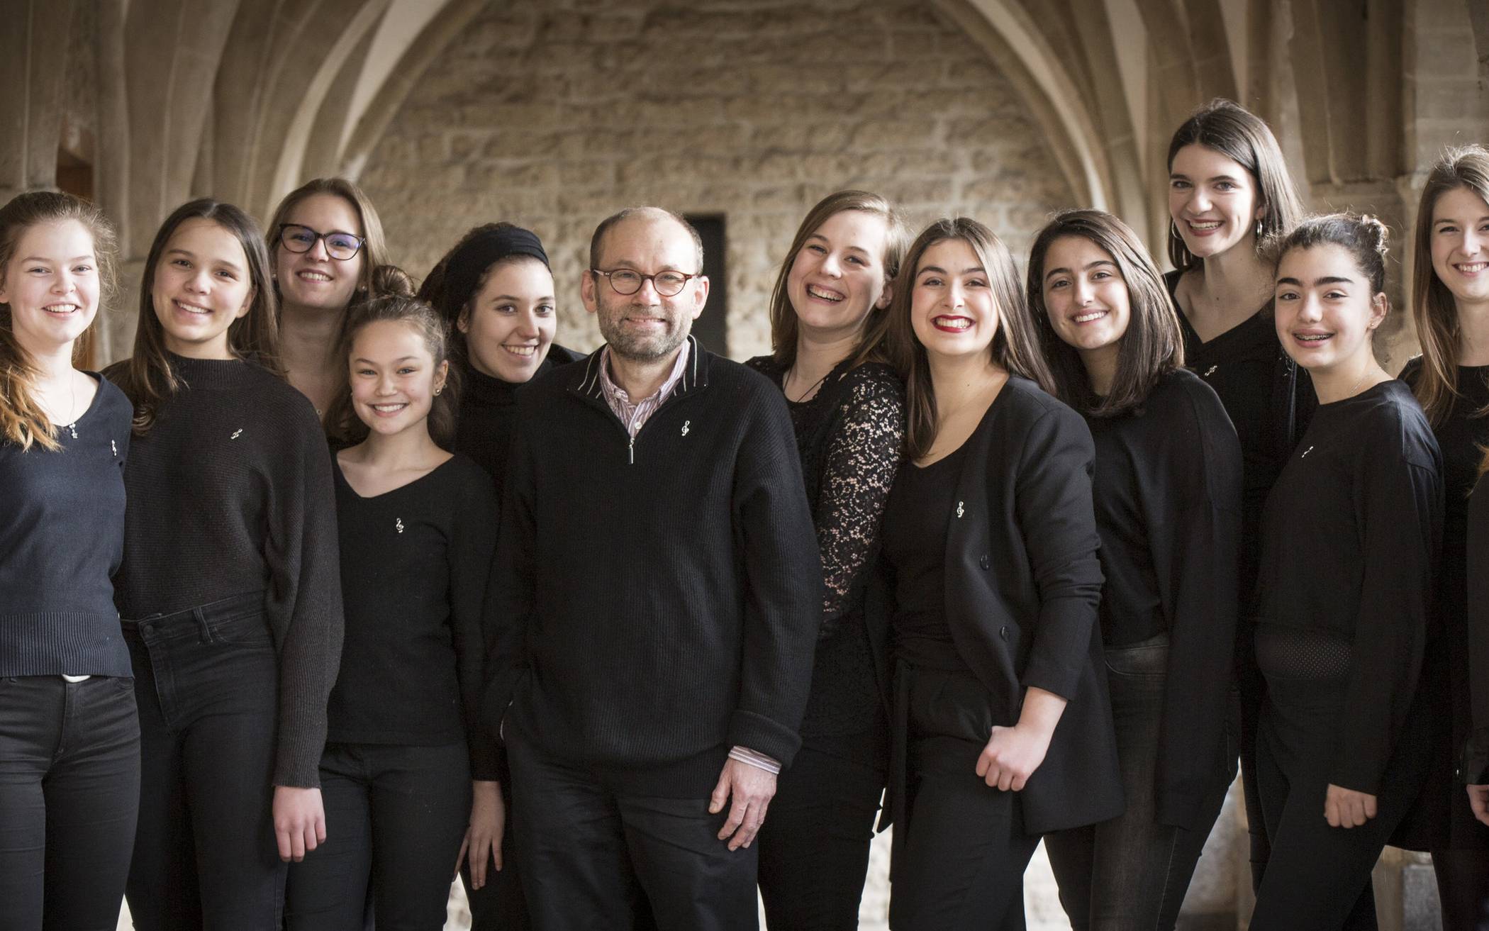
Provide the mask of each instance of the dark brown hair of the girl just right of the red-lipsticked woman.
POLYGON ((1158 378, 1184 365, 1179 311, 1163 286, 1152 256, 1127 223, 1105 210, 1066 210, 1039 231, 1029 250, 1029 311, 1033 314, 1044 356, 1054 378, 1051 392, 1083 414, 1112 417, 1147 399, 1158 378), (1132 316, 1117 344, 1117 377, 1106 396, 1091 390, 1081 353, 1060 338, 1044 304, 1045 256, 1062 237, 1081 237, 1112 256, 1127 287, 1132 316))

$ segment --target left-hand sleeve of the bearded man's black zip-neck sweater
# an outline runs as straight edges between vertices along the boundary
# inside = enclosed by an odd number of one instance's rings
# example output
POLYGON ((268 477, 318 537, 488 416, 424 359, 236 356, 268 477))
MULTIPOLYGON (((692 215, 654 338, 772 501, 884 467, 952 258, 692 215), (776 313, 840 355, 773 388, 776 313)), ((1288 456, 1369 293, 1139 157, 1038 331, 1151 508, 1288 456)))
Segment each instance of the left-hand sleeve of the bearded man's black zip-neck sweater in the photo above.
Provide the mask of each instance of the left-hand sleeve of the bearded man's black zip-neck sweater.
POLYGON ((533 520, 535 471, 532 448, 526 436, 526 411, 518 402, 512 441, 506 459, 506 480, 502 486, 500 524, 496 533, 496 554, 487 576, 482 627, 485 633, 485 690, 481 696, 478 727, 497 740, 497 766, 505 769, 500 751, 500 725, 506 709, 517 696, 517 687, 527 676, 527 626, 532 621, 536 594, 533 551, 538 527, 533 520))

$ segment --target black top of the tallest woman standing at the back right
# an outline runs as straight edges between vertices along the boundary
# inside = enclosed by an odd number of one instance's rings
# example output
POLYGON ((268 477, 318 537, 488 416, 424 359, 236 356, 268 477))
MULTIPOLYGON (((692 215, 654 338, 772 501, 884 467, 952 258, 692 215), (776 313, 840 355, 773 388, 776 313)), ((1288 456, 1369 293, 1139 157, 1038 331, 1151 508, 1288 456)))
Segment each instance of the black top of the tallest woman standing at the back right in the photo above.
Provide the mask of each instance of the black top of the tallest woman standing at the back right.
MULTIPOLYGON (((1175 305, 1179 277, 1178 271, 1163 276, 1175 305)), ((1307 369, 1282 352, 1272 301, 1209 343, 1200 340, 1182 313, 1179 328, 1184 331, 1184 365, 1215 389, 1240 439, 1239 578, 1240 597, 1249 600, 1261 551, 1261 509, 1318 408, 1318 395, 1307 369)))

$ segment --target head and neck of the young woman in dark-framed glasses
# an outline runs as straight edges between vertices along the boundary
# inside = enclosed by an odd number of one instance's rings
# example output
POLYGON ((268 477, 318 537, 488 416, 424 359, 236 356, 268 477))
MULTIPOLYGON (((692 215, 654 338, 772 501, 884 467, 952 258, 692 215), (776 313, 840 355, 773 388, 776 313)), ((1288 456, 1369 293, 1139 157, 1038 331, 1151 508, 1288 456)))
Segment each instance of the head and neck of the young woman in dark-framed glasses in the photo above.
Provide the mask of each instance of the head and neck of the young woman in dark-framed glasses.
POLYGON ((347 307, 374 295, 372 274, 387 262, 383 222, 362 188, 317 177, 284 195, 268 237, 284 375, 325 411, 345 378, 334 356, 347 307))

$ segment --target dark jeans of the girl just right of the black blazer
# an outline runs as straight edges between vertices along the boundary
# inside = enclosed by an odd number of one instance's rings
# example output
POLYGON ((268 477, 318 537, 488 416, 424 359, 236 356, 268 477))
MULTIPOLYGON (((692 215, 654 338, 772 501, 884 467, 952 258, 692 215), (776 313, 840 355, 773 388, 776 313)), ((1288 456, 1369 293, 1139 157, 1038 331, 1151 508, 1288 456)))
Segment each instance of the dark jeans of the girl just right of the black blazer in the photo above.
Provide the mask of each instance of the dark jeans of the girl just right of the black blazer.
POLYGON ((1158 824, 1158 725, 1167 682, 1167 638, 1106 651, 1127 810, 1100 824, 1045 834, 1060 904, 1075 931, 1170 930, 1194 864, 1225 801, 1217 773, 1194 830, 1158 824))

